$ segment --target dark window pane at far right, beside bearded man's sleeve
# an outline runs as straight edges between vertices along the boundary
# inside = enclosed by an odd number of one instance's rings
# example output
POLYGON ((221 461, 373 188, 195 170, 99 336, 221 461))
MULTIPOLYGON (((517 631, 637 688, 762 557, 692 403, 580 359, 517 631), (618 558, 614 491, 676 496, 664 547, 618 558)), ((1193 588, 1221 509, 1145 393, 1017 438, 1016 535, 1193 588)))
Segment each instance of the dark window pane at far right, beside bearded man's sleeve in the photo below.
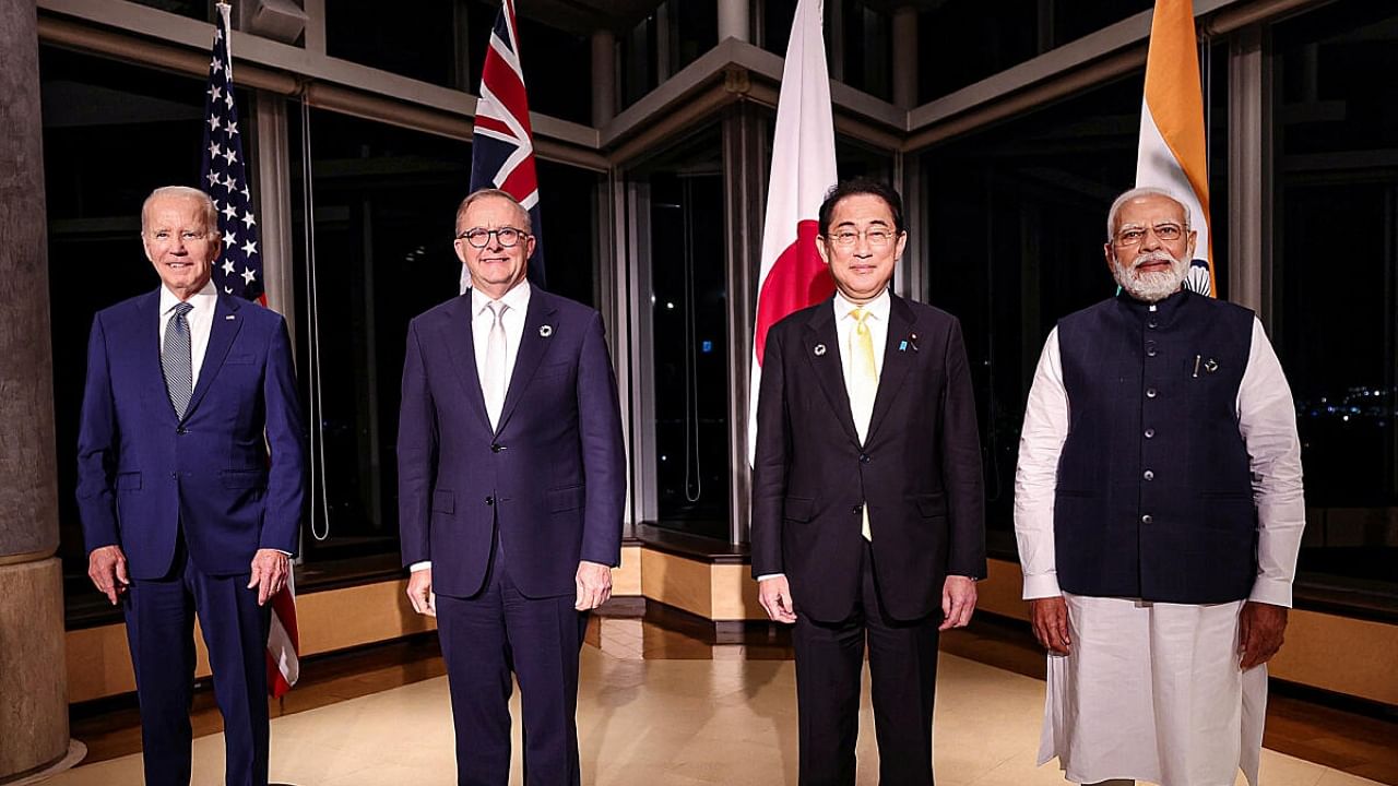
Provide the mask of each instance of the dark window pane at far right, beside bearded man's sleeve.
POLYGON ((1306 470, 1300 571, 1398 585, 1398 113, 1373 74, 1398 59, 1387 4, 1278 24, 1274 340, 1306 470))

